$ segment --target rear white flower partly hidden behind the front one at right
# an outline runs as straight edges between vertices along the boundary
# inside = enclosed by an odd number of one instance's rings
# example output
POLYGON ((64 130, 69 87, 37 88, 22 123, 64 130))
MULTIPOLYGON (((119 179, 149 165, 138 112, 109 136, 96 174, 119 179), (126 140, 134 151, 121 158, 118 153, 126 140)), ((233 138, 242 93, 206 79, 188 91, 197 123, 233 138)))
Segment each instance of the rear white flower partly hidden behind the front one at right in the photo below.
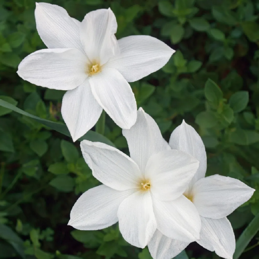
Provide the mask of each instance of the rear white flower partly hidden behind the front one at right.
MULTIPOLYGON (((196 242, 207 250, 215 251, 220 257, 232 259, 235 236, 226 216, 248 201, 255 190, 231 177, 213 175, 204 178, 207 169, 205 146, 195 129, 184 121, 172 132, 169 145, 193 155, 200 162, 197 173, 184 193, 201 217, 200 240, 196 242)), ((148 249, 154 259, 171 259, 188 244, 170 239, 157 230, 148 249)))

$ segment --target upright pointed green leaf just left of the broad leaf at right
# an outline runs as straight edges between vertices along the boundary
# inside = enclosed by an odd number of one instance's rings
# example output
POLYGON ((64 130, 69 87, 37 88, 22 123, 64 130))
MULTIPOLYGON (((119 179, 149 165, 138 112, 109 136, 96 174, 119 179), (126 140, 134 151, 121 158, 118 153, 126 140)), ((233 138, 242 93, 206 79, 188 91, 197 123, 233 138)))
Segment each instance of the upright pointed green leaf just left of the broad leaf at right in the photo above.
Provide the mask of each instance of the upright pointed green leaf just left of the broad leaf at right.
POLYGON ((210 78, 205 83, 205 97, 214 106, 218 106, 220 100, 223 98, 223 93, 218 85, 210 78))

